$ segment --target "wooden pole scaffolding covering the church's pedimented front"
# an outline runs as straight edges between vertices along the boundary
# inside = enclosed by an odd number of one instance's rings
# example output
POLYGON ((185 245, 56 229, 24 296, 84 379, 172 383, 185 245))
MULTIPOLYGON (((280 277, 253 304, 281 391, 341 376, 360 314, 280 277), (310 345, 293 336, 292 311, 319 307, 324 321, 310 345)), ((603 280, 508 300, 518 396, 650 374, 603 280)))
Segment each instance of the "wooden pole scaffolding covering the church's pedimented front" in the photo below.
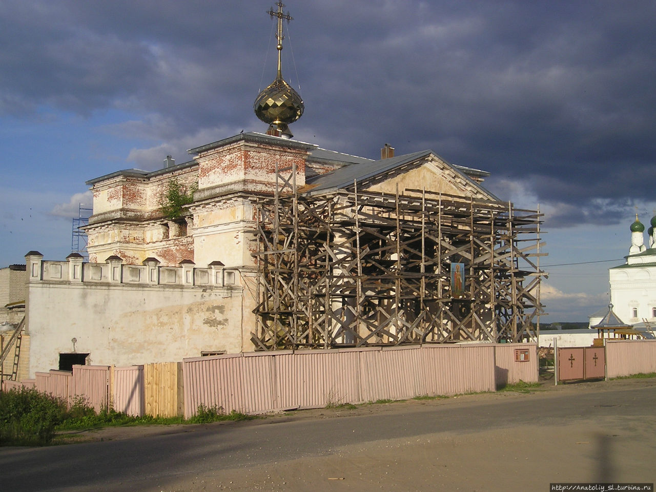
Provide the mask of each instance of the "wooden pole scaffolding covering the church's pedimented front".
POLYGON ((302 194, 291 171, 257 204, 258 350, 537 337, 539 211, 356 183, 302 194))

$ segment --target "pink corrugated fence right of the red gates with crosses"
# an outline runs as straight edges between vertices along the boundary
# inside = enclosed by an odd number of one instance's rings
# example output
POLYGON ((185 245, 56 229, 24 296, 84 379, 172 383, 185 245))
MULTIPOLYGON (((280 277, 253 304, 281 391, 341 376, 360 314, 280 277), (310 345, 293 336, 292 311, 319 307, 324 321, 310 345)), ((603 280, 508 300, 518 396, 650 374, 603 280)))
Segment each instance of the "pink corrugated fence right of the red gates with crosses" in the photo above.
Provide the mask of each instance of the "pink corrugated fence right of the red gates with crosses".
POLYGON ((606 340, 609 378, 656 372, 656 340, 606 340))

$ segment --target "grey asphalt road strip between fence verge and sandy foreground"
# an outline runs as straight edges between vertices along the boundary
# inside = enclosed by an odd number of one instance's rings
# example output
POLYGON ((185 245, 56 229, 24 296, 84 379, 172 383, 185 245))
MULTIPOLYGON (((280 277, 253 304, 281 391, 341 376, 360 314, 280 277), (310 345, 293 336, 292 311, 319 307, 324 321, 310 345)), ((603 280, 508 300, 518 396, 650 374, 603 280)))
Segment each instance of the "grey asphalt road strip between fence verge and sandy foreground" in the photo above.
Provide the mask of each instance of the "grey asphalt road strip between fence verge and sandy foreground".
MULTIPOLYGON (((430 438, 439 440, 440 436, 453 439, 458 435, 505 433, 516 428, 547 432, 545 429, 576 428, 591 422, 605 422, 607 428, 621 428, 622 422, 647 422, 636 432, 642 436, 651 434, 640 448, 640 453, 651 454, 641 457, 651 464, 644 474, 641 472, 644 476, 635 478, 653 482, 656 473, 649 476, 649 470, 656 464, 656 447, 649 441, 656 441, 655 411, 656 380, 628 380, 569 385, 533 394, 483 394, 367 405, 352 411, 298 412, 291 417, 249 422, 180 426, 163 430, 162 434, 124 440, 42 448, 5 447, 0 448, 0 492, 230 489, 233 482, 220 482, 224 476, 221 473, 226 470, 248 474, 273 465, 280 470, 285 462, 298 459, 310 459, 312 466, 312 460, 323 457, 356 459, 362 453, 370 453, 375 462, 377 451, 372 449, 380 449, 381 443, 400 443, 402 452, 403 443, 409 440, 420 443, 430 438), (199 487, 199 477, 214 477, 214 485, 199 487)), ((407 452, 417 449, 408 447, 407 452)), ((603 461, 604 456, 586 459, 603 461)), ((282 472, 278 474, 280 480, 283 476, 282 472)), ((288 482, 278 483, 278 489, 285 490, 281 485, 285 483, 288 482)), ((325 487, 316 490, 335 489, 332 482, 325 487)))

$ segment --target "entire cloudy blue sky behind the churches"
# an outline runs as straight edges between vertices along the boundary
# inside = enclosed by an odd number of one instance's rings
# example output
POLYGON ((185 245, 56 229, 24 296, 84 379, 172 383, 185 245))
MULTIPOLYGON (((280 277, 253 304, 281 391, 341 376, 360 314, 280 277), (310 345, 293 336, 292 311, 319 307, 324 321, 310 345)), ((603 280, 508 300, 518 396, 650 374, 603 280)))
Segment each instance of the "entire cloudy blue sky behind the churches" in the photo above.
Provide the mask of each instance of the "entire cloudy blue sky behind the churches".
MULTIPOLYGON (((264 131, 271 3, 2 2, 0 264, 70 253, 85 181, 264 131)), ((546 213, 545 321, 608 302, 656 201, 653 1, 289 0, 298 140, 364 157, 432 149, 546 213)))

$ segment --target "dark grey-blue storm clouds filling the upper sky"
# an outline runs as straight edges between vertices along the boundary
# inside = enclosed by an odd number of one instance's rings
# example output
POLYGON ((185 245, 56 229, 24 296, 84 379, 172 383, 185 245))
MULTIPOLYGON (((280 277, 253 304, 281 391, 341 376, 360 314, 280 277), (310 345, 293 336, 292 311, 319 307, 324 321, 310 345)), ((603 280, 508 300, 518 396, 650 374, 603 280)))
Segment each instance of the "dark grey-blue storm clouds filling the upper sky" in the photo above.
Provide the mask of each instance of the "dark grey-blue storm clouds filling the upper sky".
MULTIPOLYGON (((270 5, 10 3, 0 13, 0 110, 119 108, 139 120, 126 131, 180 145, 217 127, 262 131, 251 108, 274 75, 270 5)), ((297 138, 369 157, 386 142, 398 154, 432 148, 522 180, 558 211, 552 225, 615 220, 651 199, 653 2, 289 0, 286 9, 295 20, 283 75, 297 83, 298 70, 306 102, 297 138)))

